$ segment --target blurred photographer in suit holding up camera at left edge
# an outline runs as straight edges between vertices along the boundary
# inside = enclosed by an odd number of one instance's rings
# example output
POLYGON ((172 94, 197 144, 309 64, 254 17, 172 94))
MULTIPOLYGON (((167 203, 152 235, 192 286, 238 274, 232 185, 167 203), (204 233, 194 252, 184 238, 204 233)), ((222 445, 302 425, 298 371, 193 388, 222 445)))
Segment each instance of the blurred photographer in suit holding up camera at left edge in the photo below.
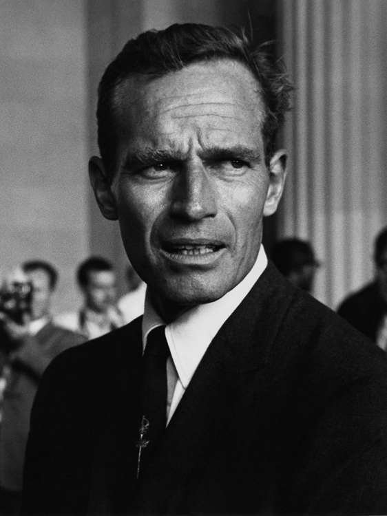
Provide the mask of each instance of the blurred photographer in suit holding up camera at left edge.
POLYGON ((46 261, 28 261, 0 289, 3 413, 0 427, 0 514, 21 505, 25 444, 39 380, 52 359, 85 338, 54 325, 52 295, 58 273, 46 261))

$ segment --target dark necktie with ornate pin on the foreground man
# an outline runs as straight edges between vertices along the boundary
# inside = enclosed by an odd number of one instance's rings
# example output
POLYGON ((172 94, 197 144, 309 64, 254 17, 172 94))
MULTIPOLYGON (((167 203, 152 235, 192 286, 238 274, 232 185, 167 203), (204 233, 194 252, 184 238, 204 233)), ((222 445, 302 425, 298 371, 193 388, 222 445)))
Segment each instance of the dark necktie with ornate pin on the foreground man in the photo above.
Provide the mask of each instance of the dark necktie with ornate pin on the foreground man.
POLYGON ((152 330, 142 361, 143 391, 138 446, 138 471, 143 472, 167 424, 167 358, 165 326, 152 330), (142 430, 141 430, 142 429, 142 430))

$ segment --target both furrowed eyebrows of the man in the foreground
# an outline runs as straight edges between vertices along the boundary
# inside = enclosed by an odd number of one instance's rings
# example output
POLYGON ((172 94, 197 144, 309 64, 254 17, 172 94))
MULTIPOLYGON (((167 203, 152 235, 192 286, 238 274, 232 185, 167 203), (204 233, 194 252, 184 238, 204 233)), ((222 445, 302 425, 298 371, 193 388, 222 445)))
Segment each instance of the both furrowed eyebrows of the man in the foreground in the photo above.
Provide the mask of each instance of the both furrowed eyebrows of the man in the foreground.
MULTIPOLYGON (((232 147, 208 147, 200 149, 198 156, 202 160, 244 160, 248 162, 259 162, 262 158, 259 149, 251 149, 244 145, 233 145, 232 147)), ((147 166, 158 162, 182 162, 187 159, 187 153, 165 149, 138 149, 135 152, 127 153, 123 162, 124 169, 133 169, 138 166, 147 166)))

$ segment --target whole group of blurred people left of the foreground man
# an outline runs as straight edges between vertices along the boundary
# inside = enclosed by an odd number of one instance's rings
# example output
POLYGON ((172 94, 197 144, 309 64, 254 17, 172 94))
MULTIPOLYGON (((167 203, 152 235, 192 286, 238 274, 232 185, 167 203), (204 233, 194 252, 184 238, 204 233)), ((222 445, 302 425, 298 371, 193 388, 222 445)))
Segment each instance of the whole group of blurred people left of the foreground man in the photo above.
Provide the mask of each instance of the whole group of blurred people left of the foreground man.
POLYGON ((31 260, 3 278, 0 288, 0 514, 20 509, 30 411, 45 368, 68 347, 143 313, 145 283, 131 266, 127 293, 118 299, 114 266, 102 257, 86 259, 76 271, 82 305, 55 315, 58 278, 48 261, 31 260))

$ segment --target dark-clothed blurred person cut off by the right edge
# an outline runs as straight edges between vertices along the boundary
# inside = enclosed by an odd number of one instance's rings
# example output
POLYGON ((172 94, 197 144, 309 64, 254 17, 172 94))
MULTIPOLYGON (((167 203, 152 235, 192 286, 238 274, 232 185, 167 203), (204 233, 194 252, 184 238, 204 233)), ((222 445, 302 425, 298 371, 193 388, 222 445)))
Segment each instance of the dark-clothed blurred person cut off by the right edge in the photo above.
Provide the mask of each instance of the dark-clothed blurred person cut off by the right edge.
POLYGON ((387 227, 375 239, 375 277, 350 294, 337 310, 346 321, 387 350, 387 227))

